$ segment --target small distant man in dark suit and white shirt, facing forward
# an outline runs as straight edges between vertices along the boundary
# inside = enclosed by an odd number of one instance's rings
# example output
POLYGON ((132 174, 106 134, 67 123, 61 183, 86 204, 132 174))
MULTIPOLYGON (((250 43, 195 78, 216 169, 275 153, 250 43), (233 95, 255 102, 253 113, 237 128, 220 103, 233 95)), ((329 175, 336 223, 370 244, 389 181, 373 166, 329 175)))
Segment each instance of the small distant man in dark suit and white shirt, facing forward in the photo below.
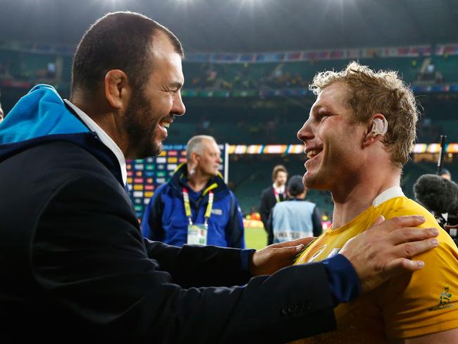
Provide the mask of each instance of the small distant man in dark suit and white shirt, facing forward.
POLYGON ((261 214, 261 221, 266 230, 268 228, 268 218, 271 215, 273 207, 275 207, 278 202, 282 202, 286 199, 285 185, 287 177, 288 173, 285 166, 275 166, 272 171, 273 184, 261 192, 259 214, 261 214))

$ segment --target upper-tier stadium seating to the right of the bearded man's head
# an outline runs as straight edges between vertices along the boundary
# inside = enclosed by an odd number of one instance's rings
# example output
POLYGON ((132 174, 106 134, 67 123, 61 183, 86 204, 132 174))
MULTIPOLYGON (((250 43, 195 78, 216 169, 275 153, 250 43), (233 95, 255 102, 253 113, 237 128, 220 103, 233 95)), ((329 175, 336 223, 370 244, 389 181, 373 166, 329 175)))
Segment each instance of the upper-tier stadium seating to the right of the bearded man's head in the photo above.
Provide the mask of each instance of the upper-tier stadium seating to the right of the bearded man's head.
MULTIPOLYGON (((361 64, 374 70, 399 70, 403 80, 415 82, 425 59, 447 82, 458 81, 458 57, 432 58, 378 57, 359 59, 361 64)), ((341 70, 348 59, 301 61, 288 63, 185 63, 187 88, 192 90, 252 90, 308 88, 314 75, 323 70, 341 70)))

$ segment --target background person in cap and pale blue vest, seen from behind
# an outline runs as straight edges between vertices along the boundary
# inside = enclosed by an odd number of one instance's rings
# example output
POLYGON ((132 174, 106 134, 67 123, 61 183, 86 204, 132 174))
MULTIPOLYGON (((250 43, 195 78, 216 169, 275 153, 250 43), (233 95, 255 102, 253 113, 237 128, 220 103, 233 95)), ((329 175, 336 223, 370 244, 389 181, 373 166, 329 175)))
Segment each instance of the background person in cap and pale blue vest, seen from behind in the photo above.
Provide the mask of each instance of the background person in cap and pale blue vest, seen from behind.
POLYGON ((323 233, 316 204, 306 201, 302 176, 292 176, 286 185, 287 199, 273 207, 268 221, 268 245, 323 233))

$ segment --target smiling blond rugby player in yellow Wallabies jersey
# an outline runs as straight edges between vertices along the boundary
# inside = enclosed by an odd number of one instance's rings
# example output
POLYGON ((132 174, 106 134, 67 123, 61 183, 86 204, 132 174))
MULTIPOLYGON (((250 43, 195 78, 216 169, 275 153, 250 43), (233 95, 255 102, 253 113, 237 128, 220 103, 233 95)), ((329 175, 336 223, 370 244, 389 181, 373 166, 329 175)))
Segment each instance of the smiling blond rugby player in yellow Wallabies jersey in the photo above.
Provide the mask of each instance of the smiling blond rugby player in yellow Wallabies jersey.
MULTIPOLYGON (((338 73, 318 73, 311 90, 318 97, 297 133, 309 157, 304 184, 330 190, 334 214, 332 228, 297 264, 338 253, 379 216, 421 214, 426 217, 421 227, 438 227, 400 188, 418 110, 397 74, 375 73, 353 62, 338 73)), ((337 331, 301 342, 458 343, 458 250, 445 231, 438 240, 436 250, 416 257, 425 262, 423 269, 390 278, 371 293, 338 306, 337 331)))

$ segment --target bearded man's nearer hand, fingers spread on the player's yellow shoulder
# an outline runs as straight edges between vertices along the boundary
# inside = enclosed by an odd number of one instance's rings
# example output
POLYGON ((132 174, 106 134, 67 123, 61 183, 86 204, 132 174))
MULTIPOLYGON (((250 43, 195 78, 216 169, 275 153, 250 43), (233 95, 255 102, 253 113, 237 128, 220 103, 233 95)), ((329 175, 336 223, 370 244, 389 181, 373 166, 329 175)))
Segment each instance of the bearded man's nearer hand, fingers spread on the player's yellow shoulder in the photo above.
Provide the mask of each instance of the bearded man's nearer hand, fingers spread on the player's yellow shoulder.
POLYGON ((357 271, 362 293, 391 276, 421 269, 424 262, 410 258, 438 246, 438 229, 415 228, 425 221, 423 216, 384 220, 379 216, 371 228, 347 241, 339 252, 357 271))

